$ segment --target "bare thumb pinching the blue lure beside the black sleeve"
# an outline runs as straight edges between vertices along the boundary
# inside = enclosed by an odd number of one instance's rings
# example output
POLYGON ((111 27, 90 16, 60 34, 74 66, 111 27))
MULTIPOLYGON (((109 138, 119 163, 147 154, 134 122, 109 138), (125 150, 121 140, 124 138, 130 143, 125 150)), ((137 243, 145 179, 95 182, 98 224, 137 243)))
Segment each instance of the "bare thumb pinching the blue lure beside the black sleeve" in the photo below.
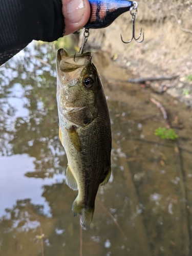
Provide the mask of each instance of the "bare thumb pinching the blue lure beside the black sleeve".
POLYGON ((65 35, 69 35, 86 25, 90 13, 88 0, 62 0, 62 14, 65 17, 65 35))

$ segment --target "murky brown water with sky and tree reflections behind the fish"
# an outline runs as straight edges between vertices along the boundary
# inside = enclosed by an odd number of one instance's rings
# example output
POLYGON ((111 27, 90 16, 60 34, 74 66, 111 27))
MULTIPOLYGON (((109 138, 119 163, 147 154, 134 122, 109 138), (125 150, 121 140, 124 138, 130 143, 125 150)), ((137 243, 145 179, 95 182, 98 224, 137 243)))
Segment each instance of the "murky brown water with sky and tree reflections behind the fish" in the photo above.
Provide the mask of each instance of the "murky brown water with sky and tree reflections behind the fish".
POLYGON ((94 54, 111 115, 112 177, 84 231, 65 182, 55 55, 51 44, 31 44, 0 68, 0 254, 191 255, 191 111, 127 83, 126 70, 94 54), (177 141, 154 135, 165 121, 150 97, 165 106, 177 141))

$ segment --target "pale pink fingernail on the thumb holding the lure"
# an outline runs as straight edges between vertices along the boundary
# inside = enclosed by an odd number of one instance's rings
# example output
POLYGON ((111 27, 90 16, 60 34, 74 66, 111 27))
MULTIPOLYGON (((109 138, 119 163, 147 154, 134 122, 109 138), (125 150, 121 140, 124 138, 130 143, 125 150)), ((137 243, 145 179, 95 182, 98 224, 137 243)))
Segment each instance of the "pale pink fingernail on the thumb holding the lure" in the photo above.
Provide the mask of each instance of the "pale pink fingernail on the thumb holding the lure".
POLYGON ((68 3, 68 14, 72 23, 78 23, 84 13, 83 0, 72 0, 68 3))

